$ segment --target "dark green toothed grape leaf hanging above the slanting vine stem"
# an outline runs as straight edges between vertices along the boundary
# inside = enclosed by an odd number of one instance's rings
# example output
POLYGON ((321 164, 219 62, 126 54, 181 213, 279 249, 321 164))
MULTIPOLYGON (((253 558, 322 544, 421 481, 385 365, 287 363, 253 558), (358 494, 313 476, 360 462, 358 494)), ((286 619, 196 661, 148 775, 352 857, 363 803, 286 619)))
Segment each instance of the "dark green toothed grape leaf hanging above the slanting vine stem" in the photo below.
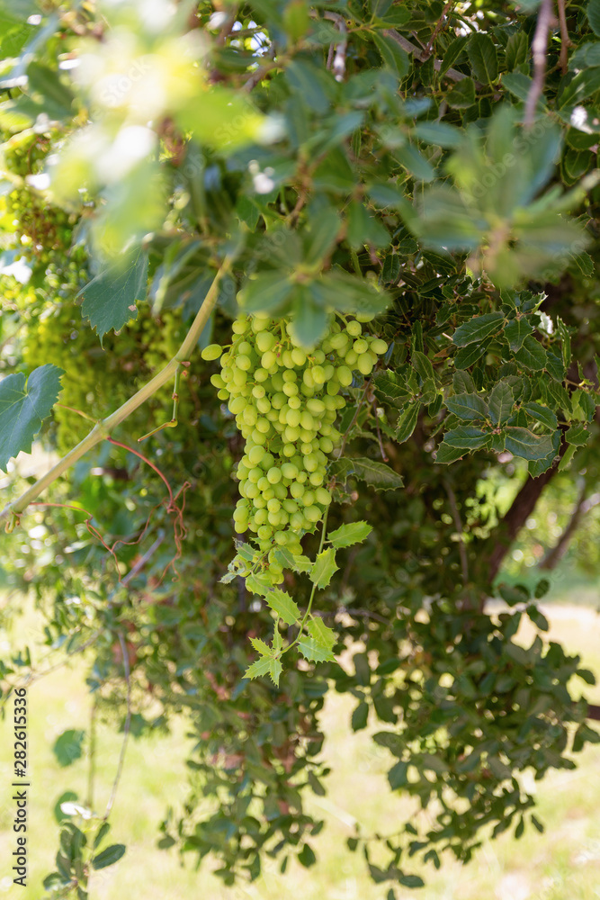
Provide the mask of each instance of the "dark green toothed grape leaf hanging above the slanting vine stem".
POLYGON ((119 331, 138 318, 136 301, 146 299, 147 281, 148 254, 138 250, 130 260, 104 269, 77 294, 84 298, 81 314, 96 330, 101 345, 108 331, 119 331))

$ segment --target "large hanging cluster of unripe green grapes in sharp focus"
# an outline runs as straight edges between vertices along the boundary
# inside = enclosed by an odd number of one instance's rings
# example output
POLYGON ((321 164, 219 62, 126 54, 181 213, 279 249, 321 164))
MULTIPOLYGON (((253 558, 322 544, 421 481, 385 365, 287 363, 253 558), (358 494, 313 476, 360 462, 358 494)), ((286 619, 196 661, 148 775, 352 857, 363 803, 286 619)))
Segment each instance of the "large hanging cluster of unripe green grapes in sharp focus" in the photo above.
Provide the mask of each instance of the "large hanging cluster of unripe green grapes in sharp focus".
POLYGON ((236 531, 253 532, 261 551, 279 545, 300 553, 300 537, 323 518, 332 499, 327 462, 342 437, 335 426, 346 403, 340 391, 353 383, 353 370, 371 374, 387 348, 363 335, 358 319, 332 321, 318 347, 306 350, 290 321, 244 315, 233 323, 226 352, 217 344, 202 352, 204 359, 220 356, 211 382, 246 439, 236 531))

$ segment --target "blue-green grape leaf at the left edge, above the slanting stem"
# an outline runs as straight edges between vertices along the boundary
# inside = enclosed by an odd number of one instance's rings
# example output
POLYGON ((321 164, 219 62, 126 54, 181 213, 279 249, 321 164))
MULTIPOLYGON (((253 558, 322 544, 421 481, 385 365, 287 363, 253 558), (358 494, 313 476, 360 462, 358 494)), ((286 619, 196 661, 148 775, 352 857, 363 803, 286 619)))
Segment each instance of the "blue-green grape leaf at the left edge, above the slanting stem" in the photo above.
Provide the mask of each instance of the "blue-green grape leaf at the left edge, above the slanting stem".
POLYGON ((7 375, 0 383, 0 469, 22 450, 31 453, 33 438, 47 419, 60 392, 64 371, 56 365, 40 365, 29 378, 7 375))

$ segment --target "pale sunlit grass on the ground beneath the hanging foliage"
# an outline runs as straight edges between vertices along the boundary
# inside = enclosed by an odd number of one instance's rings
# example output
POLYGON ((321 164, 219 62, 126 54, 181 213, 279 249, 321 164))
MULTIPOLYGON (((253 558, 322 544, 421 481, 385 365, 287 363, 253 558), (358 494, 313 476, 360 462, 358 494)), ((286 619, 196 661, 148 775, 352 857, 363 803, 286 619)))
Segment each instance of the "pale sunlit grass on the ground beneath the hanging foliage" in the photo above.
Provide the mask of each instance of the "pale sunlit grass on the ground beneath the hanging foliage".
MULTIPOLYGON (((587 608, 551 607, 553 639, 582 655, 582 663, 600 675, 600 617, 587 608)), ((15 644, 19 623, 13 626, 15 644)), ((533 629, 522 629, 524 643, 531 643, 533 629)), ((6 635, 0 637, 6 640, 6 635)), ((20 643, 20 642, 18 642, 20 643)), ((67 769, 58 766, 51 747, 67 728, 87 728, 90 697, 84 683, 84 666, 62 668, 33 684, 29 691, 31 748, 31 794, 29 807, 31 850, 29 886, 19 888, 23 900, 39 900, 42 878, 53 868, 58 845, 58 825, 52 806, 66 790, 82 800, 87 792, 88 762, 76 761, 67 769)), ((590 698, 600 702, 600 690, 589 689, 590 698)), ((112 814, 112 841, 127 844, 123 860, 94 876, 93 900, 121 900, 122 897, 207 898, 207 900, 281 900, 302 896, 303 900, 383 900, 387 887, 373 885, 363 858, 347 850, 345 841, 354 833, 354 821, 365 833, 375 830, 392 833, 407 815, 416 812, 414 801, 390 796, 386 773, 390 757, 373 744, 368 731, 351 734, 349 717, 355 701, 332 695, 324 714, 327 742, 325 754, 332 767, 327 781, 327 797, 310 801, 312 810, 326 819, 327 827, 312 844, 318 862, 311 869, 299 864, 279 874, 279 864, 266 860, 264 874, 252 885, 222 887, 210 875, 210 863, 199 872, 193 860, 182 868, 176 851, 157 850, 157 826, 166 806, 179 806, 186 795, 184 766, 189 739, 182 721, 173 734, 155 734, 131 740, 126 766, 112 814)), ((12 707, 9 705, 12 714, 12 707)), ((374 723, 373 723, 374 725, 374 723)), ((375 726, 376 727, 376 726, 375 726)), ((0 869, 0 896, 14 896, 6 860, 12 851, 13 806, 10 794, 10 731, 1 725, 0 842, 3 867, 0 869)), ((107 725, 98 728, 98 752, 94 807, 102 812, 109 797, 121 749, 121 736, 107 725)), ((574 772, 557 772, 528 788, 535 790, 539 817, 546 833, 527 831, 519 842, 505 834, 488 842, 467 867, 444 860, 443 868, 416 869, 425 876, 427 887, 420 892, 397 889, 402 900, 598 900, 600 897, 600 747, 588 748, 578 756, 574 772)), ((421 814, 423 815, 423 814, 421 814)))

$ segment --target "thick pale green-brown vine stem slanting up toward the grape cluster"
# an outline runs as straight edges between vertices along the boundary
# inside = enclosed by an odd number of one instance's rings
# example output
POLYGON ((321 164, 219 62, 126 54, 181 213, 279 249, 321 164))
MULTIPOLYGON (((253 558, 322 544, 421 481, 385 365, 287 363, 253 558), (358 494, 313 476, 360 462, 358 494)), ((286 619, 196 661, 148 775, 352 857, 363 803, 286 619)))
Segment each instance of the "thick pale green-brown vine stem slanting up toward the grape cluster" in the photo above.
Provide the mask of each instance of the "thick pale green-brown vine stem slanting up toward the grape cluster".
POLYGON ((67 469, 70 469, 78 459, 81 459, 88 450, 91 450, 96 444, 100 444, 105 440, 110 435, 113 428, 116 428, 117 425, 121 425, 121 422, 127 419, 134 410, 137 410, 142 403, 145 403, 154 393, 156 393, 158 388, 162 387, 163 384, 174 377, 177 366, 185 362, 188 357, 192 355, 193 349, 198 342, 198 338, 200 338, 210 313, 217 302, 219 282, 223 275, 228 272, 231 263, 232 258, 225 257, 217 275, 215 275, 213 282, 210 285, 209 292, 204 298, 196 318, 193 320, 190 330, 184 338, 184 343, 179 347, 179 350, 173 359, 166 364, 165 368, 161 369, 154 378, 151 378, 143 388, 140 388, 140 390, 133 395, 133 397, 130 397, 128 401, 125 401, 118 410, 115 410, 101 422, 97 422, 90 433, 84 437, 83 441, 80 441, 77 446, 73 447, 72 450, 69 450, 67 455, 58 460, 58 463, 52 466, 49 472, 42 475, 35 484, 32 484, 27 491, 22 493, 21 497, 17 500, 13 500, 12 503, 8 503, 2 512, 0 512, 0 522, 3 520, 10 522, 11 517, 18 516, 22 513, 22 511, 29 506, 31 501, 36 500, 36 498, 39 497, 52 482, 56 482, 58 478, 60 478, 63 473, 67 472, 67 469))

